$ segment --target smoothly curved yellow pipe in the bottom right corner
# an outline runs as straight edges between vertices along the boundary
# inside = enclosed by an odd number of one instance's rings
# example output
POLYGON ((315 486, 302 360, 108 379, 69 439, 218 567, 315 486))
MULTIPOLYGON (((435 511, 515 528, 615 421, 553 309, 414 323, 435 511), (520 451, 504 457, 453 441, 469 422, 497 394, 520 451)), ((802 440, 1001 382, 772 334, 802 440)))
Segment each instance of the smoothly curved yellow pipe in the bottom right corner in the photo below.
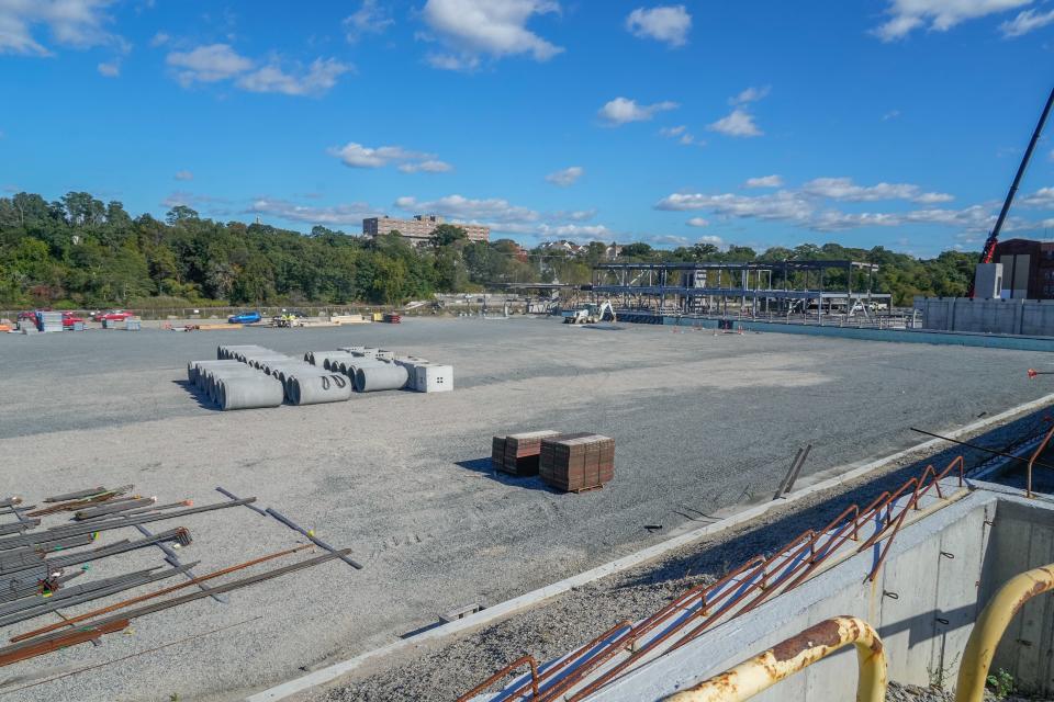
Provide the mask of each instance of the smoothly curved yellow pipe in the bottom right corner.
POLYGON ((955 702, 982 702, 996 646, 1018 610, 1036 595, 1054 589, 1054 564, 1014 576, 991 598, 969 633, 958 666, 955 702))

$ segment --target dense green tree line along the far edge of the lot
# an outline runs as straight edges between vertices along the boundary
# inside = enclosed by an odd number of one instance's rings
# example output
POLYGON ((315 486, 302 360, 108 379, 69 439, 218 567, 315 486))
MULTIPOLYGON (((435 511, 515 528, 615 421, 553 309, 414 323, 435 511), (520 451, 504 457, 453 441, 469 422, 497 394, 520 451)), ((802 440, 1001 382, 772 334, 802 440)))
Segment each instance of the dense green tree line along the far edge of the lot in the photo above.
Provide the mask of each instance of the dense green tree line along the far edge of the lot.
MULTIPOLYGON (((576 256, 560 249, 524 251, 511 239, 469 241, 453 225, 439 225, 431 246, 417 248, 397 233, 373 239, 316 226, 305 235, 215 222, 184 205, 172 207, 161 222, 148 214, 132 217, 122 203, 85 192, 54 202, 18 193, 0 197, 0 305, 399 305, 501 283, 588 283, 606 250, 607 245, 592 242, 576 256)), ((896 305, 909 305, 913 295, 964 294, 978 259, 945 251, 922 260, 883 247, 837 244, 758 252, 707 244, 662 250, 637 242, 619 253, 620 261, 788 258, 878 263, 875 291, 892 293, 896 305)))

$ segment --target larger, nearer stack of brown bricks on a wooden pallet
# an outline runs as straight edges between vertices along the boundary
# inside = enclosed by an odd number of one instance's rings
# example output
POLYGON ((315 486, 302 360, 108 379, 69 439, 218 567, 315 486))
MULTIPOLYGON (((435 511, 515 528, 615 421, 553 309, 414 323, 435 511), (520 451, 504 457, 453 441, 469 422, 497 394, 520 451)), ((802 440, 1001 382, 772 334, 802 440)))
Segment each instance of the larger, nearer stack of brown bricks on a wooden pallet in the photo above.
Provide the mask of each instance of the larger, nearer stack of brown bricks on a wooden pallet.
POLYGON ((615 478, 615 440, 593 433, 542 439, 539 474, 565 492, 602 487, 615 478))

